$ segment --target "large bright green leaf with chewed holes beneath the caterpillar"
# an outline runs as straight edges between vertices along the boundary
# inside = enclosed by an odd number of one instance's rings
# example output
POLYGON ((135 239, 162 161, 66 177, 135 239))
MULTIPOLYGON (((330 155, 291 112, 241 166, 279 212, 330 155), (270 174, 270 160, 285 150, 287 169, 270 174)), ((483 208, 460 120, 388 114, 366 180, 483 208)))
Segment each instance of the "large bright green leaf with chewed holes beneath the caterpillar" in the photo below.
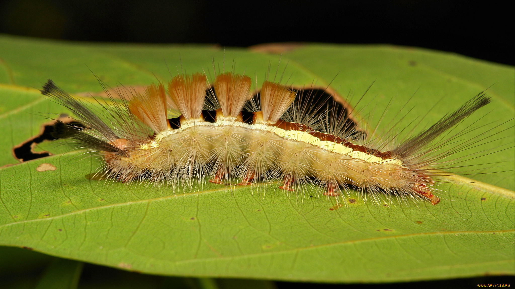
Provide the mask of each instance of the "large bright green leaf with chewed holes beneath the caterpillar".
POLYGON ((367 113, 381 115, 394 98, 381 122, 385 129, 415 92, 408 103, 413 110, 402 124, 434 107, 424 120, 432 123, 493 85, 487 91, 493 112, 481 123, 492 123, 489 128, 506 123, 493 128, 492 137, 477 148, 491 154, 465 162, 476 169, 467 176, 479 182, 453 176, 439 187, 442 200, 435 206, 377 206, 354 192, 345 198, 347 206, 339 206, 315 193, 285 194, 276 184, 263 186, 261 194, 211 183, 174 194, 147 184, 88 180, 84 176, 99 166, 98 160, 59 143, 39 146, 54 153, 50 157, 16 164, 10 156, 12 146, 37 134, 47 121, 37 114, 67 113, 25 87, 52 78, 73 93, 99 92, 85 65, 110 85, 145 85, 169 78, 165 61, 173 71, 181 69, 180 60, 187 72, 208 71, 212 57, 223 65, 224 53, 227 67, 234 61, 237 72, 255 73, 259 81, 269 63, 274 66, 280 58, 201 45, 1 37, 5 65, 0 67, 13 83, 0 78, 5 83, 0 99, 6 100, 0 113, 5 136, 0 161, 15 165, 0 169, 0 244, 143 273, 202 278, 392 282, 513 274, 512 67, 376 45, 305 45, 281 57, 288 63, 288 83, 315 80, 319 86, 331 83, 340 95, 351 92, 350 103, 372 125, 377 117, 368 119, 367 113), (487 162, 493 168, 481 166, 487 162), (56 169, 37 171, 42 164, 56 169))

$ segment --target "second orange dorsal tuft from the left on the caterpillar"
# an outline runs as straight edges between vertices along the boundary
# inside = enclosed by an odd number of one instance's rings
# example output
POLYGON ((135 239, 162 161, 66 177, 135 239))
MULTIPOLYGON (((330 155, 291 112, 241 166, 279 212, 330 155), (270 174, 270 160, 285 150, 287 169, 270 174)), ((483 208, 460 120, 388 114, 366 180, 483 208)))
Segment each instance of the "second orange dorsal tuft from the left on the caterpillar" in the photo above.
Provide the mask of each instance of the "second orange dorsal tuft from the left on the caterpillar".
POLYGON ((168 83, 168 94, 186 120, 198 119, 205 99, 205 75, 178 75, 168 83))

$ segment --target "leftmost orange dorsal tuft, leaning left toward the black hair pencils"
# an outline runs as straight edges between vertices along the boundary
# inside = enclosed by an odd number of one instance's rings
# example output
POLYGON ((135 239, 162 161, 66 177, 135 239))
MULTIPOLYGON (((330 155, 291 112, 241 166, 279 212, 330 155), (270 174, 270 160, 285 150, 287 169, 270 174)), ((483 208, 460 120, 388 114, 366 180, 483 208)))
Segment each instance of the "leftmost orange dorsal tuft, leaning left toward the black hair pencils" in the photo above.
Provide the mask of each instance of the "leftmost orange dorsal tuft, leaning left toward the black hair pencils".
POLYGON ((129 111, 154 132, 167 130, 169 124, 166 119, 166 95, 163 84, 151 84, 146 87, 144 94, 136 94, 129 101, 129 111))

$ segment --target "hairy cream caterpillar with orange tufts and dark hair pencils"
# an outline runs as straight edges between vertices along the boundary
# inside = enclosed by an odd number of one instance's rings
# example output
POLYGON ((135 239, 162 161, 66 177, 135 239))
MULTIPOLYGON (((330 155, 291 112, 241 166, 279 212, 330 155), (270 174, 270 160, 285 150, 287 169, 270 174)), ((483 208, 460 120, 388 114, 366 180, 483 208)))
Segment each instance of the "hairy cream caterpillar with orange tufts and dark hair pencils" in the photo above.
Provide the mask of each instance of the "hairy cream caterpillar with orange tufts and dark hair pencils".
POLYGON ((207 177, 226 186, 277 182, 286 192, 315 184, 328 197, 352 188, 376 202, 398 196, 433 205, 440 201, 435 182, 441 154, 435 151, 455 136, 435 140, 490 102, 480 93, 396 145, 374 145, 352 110, 332 98, 313 98, 308 89, 272 81, 264 81, 252 96, 251 83, 250 77, 234 73, 216 75, 213 85, 205 74, 178 74, 166 88, 151 84, 127 101, 102 105, 100 112, 52 80, 41 93, 88 127, 60 123, 56 138, 73 139, 99 153, 110 179, 144 179, 173 190, 207 177), (170 104, 179 117, 167 118, 170 104))

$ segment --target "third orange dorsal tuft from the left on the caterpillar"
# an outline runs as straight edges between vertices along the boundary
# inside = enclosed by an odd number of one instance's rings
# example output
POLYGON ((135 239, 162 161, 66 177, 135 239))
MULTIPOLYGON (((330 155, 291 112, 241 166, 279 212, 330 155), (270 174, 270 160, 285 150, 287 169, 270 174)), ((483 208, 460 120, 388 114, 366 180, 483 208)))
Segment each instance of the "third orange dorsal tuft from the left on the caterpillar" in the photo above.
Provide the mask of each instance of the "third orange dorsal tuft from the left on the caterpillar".
POLYGON ((221 74, 215 79, 214 88, 224 117, 236 117, 249 99, 250 77, 238 74, 221 74))

